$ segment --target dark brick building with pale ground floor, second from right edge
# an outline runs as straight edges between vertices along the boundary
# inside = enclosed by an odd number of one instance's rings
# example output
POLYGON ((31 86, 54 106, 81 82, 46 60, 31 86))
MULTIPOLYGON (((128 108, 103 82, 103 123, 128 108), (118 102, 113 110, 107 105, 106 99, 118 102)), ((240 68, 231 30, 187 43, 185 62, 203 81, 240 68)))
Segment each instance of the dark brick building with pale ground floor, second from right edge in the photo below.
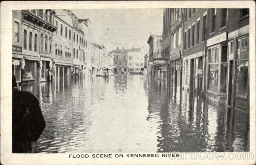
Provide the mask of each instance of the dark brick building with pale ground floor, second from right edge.
POLYGON ((191 92, 204 92, 207 9, 184 10, 182 86, 191 92))

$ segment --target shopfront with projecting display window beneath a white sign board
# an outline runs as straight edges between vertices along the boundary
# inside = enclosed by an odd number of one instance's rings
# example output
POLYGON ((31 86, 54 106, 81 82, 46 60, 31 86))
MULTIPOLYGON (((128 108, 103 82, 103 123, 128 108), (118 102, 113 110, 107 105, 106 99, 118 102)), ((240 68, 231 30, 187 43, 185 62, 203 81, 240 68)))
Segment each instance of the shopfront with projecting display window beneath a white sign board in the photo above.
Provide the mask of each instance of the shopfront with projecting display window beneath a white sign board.
POLYGON ((207 40, 207 97, 224 102, 227 81, 227 32, 207 40))

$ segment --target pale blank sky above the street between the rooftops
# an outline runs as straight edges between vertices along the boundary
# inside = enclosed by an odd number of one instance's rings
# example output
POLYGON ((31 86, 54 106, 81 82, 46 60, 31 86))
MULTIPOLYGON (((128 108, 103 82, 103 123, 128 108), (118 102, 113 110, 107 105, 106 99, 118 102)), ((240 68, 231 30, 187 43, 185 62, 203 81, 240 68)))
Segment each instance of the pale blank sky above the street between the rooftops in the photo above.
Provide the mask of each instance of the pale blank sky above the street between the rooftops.
POLYGON ((150 34, 161 35, 163 9, 71 9, 79 18, 89 18, 96 43, 103 43, 107 51, 119 47, 144 47, 150 34))

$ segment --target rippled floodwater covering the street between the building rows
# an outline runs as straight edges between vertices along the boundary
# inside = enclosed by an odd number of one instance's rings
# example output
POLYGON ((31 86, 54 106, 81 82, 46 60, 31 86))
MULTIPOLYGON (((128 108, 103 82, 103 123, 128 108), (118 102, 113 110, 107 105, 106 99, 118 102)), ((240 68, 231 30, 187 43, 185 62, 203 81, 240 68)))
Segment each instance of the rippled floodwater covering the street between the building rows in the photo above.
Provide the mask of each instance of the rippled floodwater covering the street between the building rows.
POLYGON ((143 75, 41 83, 38 153, 249 151, 246 115, 143 75))

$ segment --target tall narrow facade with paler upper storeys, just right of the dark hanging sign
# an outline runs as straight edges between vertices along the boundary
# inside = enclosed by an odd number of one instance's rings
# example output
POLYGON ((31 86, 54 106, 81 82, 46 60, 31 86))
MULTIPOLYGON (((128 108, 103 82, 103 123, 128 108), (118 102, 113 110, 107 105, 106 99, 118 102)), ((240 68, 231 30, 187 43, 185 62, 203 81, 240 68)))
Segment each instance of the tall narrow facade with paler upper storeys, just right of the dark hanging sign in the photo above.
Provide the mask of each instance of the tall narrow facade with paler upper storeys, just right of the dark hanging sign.
POLYGON ((163 58, 168 59, 168 85, 180 89, 183 57, 183 9, 164 9, 163 13, 163 58))

